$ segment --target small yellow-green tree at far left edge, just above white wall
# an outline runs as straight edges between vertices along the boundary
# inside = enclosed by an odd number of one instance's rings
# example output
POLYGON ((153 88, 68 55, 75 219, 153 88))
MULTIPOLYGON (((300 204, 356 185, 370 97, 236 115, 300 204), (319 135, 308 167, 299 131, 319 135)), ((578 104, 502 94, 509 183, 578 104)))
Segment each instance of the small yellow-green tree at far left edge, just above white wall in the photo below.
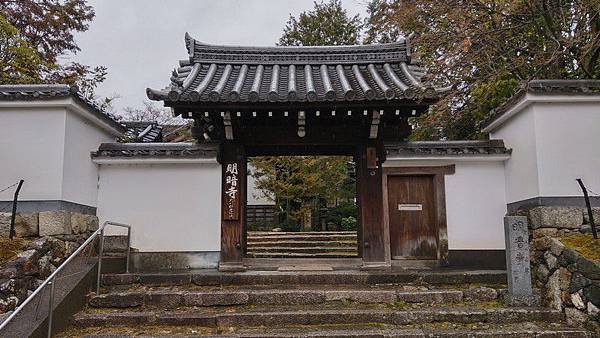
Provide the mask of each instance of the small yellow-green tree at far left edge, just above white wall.
POLYGON ((37 83, 42 68, 37 50, 0 15, 0 83, 37 83))

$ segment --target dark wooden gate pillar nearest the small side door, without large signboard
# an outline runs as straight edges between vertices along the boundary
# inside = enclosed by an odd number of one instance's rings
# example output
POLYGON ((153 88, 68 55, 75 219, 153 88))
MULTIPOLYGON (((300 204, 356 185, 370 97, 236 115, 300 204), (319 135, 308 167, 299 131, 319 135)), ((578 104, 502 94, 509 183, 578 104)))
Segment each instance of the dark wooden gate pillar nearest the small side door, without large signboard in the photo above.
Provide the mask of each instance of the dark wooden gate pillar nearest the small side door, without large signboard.
MULTIPOLYGON (((363 268, 381 269, 390 266, 386 259, 383 221, 382 163, 383 146, 376 143, 360 145, 356 155, 356 195, 359 226, 362 230, 363 268)), ((387 244, 389 245, 389 244, 387 244)))

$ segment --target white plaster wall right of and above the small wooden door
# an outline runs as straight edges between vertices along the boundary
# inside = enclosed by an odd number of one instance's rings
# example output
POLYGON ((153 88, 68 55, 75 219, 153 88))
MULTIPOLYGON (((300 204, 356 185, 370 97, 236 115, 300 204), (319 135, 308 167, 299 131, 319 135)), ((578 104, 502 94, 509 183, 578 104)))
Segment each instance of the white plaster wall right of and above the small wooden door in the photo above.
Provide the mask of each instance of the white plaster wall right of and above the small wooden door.
POLYGON ((504 249, 506 194, 502 161, 394 160, 391 166, 454 164, 445 176, 448 247, 450 250, 504 249))

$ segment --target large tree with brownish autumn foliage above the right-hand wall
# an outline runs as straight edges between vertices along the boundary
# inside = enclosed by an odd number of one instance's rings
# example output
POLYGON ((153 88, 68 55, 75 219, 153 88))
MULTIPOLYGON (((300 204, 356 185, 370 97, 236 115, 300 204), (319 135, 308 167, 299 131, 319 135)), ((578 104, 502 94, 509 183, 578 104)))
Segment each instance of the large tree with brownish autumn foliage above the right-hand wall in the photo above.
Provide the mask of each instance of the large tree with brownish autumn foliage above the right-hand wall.
POLYGON ((415 57, 453 85, 416 119, 414 138, 480 138, 522 81, 600 77, 599 10, 599 0, 372 0, 366 41, 416 33, 415 57))

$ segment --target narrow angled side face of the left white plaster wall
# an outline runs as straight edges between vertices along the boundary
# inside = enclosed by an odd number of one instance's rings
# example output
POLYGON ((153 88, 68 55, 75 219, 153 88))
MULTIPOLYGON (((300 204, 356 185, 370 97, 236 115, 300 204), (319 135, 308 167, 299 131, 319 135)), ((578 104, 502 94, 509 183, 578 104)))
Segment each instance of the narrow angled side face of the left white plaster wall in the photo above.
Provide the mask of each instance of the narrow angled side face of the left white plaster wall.
POLYGON ((66 115, 62 199, 96 206, 98 199, 98 167, 90 152, 103 142, 115 142, 107 131, 84 120, 76 113, 66 115))

